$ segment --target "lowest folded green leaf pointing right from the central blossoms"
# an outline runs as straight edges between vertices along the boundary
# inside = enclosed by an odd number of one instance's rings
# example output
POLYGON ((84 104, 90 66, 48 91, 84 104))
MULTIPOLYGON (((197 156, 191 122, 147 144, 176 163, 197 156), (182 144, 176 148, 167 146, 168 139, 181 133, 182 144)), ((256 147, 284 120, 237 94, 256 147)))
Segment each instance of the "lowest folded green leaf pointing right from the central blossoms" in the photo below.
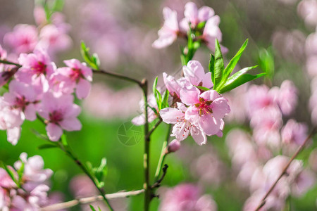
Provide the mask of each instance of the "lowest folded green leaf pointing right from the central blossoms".
POLYGON ((249 82, 251 80, 257 79, 259 77, 262 77, 266 75, 266 72, 257 74, 257 75, 250 75, 250 74, 245 74, 245 72, 256 68, 257 66, 249 67, 249 68, 244 68, 240 70, 239 72, 236 72, 234 75, 232 75, 228 81, 223 85, 223 87, 220 87, 220 89, 216 90, 218 93, 223 94, 226 91, 230 91, 232 89, 235 89, 236 87, 239 87, 240 85, 249 82))

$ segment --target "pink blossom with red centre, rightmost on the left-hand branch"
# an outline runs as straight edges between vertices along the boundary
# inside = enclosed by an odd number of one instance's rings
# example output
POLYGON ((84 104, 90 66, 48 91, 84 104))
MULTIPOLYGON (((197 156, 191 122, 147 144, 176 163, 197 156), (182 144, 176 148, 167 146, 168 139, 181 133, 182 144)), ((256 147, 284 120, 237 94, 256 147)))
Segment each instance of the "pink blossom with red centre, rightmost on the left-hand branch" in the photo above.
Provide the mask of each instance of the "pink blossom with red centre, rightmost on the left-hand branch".
POLYGON ((64 60, 67 68, 58 68, 57 71, 69 77, 75 84, 77 98, 86 98, 89 95, 92 82, 92 69, 86 63, 80 63, 77 59, 64 60))

